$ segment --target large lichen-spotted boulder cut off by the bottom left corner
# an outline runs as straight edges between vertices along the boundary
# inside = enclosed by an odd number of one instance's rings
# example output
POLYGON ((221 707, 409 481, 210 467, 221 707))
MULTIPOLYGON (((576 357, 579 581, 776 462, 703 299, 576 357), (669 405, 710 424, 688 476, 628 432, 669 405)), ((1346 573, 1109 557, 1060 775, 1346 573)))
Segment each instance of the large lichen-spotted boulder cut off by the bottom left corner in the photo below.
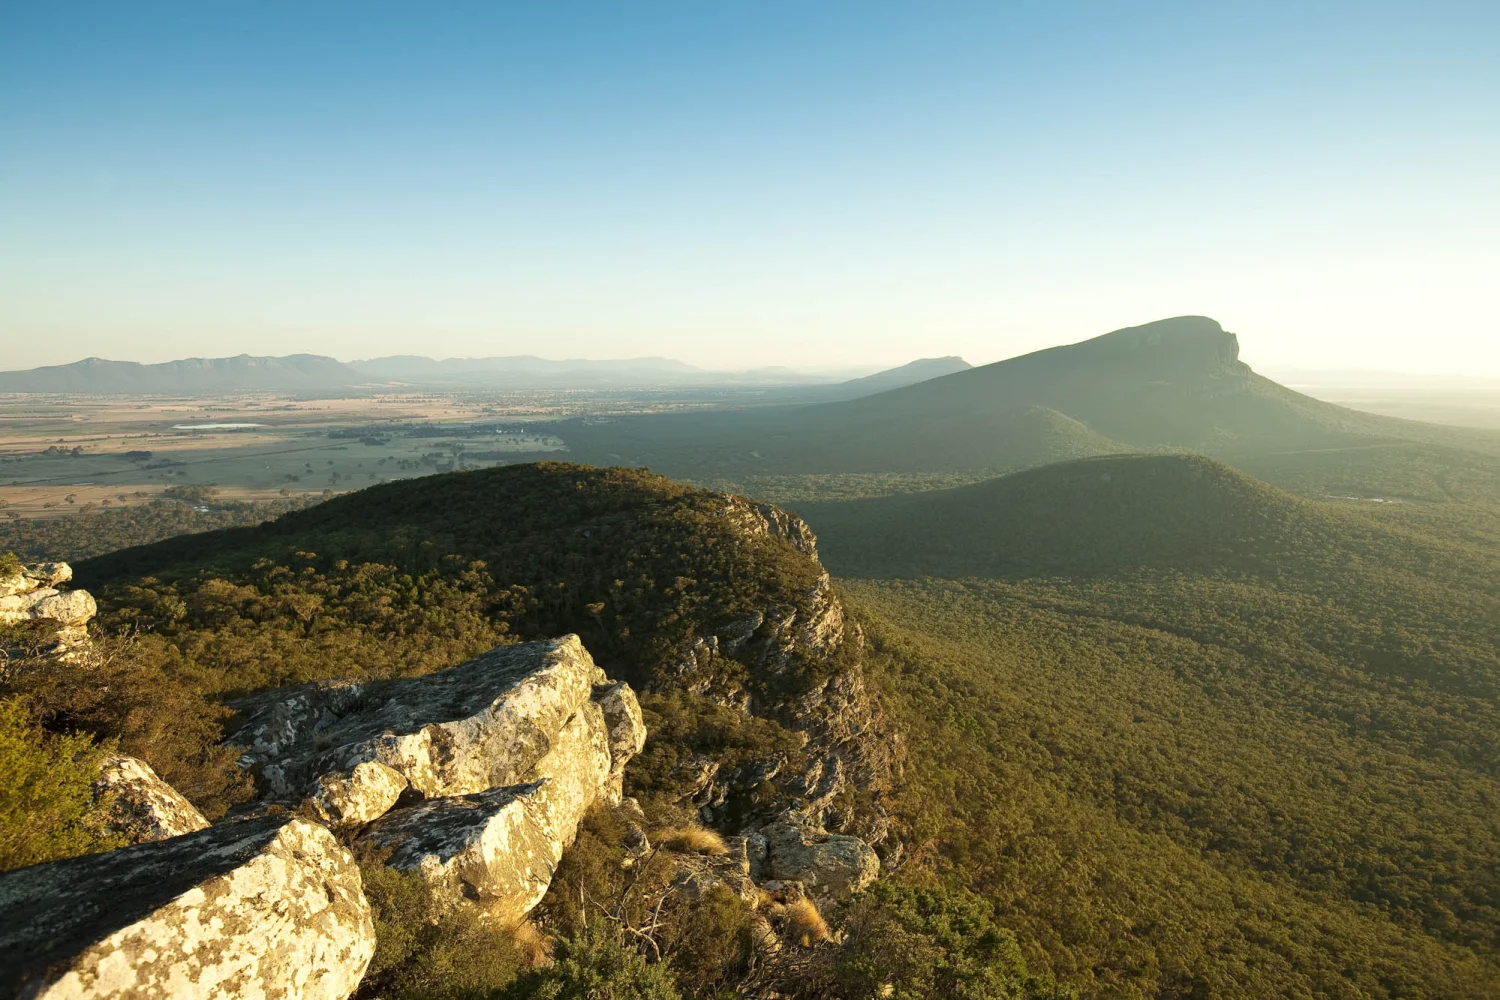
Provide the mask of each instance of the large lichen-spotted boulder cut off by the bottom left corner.
POLYGON ((291 817, 0 876, 0 994, 344 1000, 375 951, 352 856, 291 817))

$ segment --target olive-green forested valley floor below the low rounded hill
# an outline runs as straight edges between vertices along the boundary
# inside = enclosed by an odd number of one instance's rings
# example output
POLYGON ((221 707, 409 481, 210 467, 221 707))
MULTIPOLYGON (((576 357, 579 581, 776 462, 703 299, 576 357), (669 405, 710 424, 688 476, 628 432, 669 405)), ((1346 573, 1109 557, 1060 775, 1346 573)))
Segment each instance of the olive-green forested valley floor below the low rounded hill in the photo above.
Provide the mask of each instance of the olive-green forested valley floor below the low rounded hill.
POLYGON ((906 877, 988 900, 1032 969, 1088 997, 1494 996, 1492 696, 1324 652, 1274 589, 846 588, 912 747, 906 877))

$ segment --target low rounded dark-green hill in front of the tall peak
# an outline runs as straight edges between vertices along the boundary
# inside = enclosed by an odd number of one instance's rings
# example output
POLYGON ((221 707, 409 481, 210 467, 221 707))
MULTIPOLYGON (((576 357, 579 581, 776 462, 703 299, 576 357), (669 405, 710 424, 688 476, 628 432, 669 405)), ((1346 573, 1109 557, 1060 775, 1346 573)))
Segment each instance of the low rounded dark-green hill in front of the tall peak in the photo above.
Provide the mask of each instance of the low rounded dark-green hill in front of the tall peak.
POLYGON ((1143 570, 1328 580, 1371 567, 1500 595, 1491 562, 1347 505, 1302 499, 1203 456, 1060 462, 986 483, 804 504, 848 576, 1118 577, 1143 570))

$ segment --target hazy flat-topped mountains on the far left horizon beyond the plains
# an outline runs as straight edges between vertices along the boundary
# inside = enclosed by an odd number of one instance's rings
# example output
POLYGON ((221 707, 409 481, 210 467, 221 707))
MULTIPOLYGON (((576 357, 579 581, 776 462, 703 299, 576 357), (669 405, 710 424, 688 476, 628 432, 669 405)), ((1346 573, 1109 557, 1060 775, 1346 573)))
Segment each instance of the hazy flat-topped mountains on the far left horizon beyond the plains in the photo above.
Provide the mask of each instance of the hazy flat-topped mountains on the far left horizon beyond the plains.
POLYGON ((0 393, 212 393, 232 390, 324 390, 368 381, 318 354, 280 358, 183 358, 160 364, 84 358, 26 372, 0 372, 0 393))

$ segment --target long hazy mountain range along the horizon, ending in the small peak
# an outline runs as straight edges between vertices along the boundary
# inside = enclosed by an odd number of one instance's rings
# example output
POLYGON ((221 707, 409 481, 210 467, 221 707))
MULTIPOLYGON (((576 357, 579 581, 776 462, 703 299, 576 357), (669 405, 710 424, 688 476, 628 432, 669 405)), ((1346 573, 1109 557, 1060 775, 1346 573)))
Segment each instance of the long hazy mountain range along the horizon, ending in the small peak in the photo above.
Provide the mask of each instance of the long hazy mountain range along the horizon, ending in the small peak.
POLYGON ((288 357, 184 358, 160 364, 84 358, 24 372, 0 372, 0 393, 340 391, 387 385, 492 388, 645 388, 765 385, 806 390, 800 399, 854 399, 969 364, 922 358, 886 372, 838 381, 790 367, 711 372, 674 358, 554 361, 534 355, 446 358, 393 355, 344 363, 316 354, 288 357))

